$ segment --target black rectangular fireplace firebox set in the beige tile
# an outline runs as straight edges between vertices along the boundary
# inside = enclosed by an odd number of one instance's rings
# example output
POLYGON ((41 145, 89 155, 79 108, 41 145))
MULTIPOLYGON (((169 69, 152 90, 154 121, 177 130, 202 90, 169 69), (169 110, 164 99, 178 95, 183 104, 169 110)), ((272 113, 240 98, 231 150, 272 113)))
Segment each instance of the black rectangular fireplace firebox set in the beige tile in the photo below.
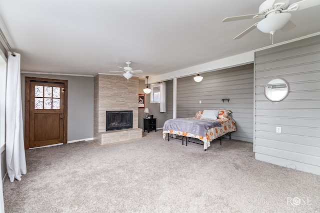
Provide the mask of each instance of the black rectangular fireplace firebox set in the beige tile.
POLYGON ((131 111, 105 111, 105 131, 132 128, 131 111))

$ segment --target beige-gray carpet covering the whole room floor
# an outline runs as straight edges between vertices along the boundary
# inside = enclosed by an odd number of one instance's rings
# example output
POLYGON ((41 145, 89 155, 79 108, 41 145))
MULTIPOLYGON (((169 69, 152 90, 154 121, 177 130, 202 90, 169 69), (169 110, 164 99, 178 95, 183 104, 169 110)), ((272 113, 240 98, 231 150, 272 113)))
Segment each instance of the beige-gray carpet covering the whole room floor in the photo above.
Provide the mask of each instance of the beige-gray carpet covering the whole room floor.
POLYGON ((320 176, 256 161, 236 140, 203 151, 152 131, 26 150, 26 161, 22 181, 3 185, 6 213, 320 212, 320 176))

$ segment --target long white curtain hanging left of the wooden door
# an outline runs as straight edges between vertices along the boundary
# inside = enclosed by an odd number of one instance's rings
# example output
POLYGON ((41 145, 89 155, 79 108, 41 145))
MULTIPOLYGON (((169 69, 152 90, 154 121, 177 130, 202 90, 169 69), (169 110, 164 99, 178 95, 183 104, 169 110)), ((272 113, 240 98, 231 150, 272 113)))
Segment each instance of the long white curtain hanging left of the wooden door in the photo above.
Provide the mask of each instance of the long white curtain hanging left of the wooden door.
POLYGON ((26 173, 24 154, 20 54, 15 56, 8 52, 6 80, 6 169, 10 182, 21 181, 21 175, 26 173))

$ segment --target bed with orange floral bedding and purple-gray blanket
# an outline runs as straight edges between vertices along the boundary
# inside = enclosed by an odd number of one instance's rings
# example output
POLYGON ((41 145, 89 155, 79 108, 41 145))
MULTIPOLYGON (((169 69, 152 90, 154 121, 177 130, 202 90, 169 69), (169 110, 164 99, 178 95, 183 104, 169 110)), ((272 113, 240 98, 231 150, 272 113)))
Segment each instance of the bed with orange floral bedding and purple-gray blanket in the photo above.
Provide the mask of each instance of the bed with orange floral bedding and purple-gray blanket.
MULTIPOLYGON (((210 142, 222 135, 236 131, 234 120, 228 115, 229 110, 199 110, 194 117, 175 118, 164 122, 162 136, 179 135, 188 139, 196 138, 203 142, 204 151, 210 146, 210 142)), ((169 138, 168 138, 169 139, 169 138)), ((192 141, 190 141, 192 142, 192 141)))

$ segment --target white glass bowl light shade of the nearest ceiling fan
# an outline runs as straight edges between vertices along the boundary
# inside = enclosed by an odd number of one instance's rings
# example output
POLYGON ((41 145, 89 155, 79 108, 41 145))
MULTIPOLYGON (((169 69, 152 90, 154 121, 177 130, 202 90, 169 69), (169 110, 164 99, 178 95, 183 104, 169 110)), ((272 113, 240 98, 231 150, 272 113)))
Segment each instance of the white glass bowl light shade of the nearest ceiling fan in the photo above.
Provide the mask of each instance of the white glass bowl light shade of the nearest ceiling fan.
POLYGON ((256 27, 261 32, 273 34, 276 30, 281 29, 290 20, 290 18, 291 13, 289 12, 277 13, 263 18, 258 22, 256 27))

